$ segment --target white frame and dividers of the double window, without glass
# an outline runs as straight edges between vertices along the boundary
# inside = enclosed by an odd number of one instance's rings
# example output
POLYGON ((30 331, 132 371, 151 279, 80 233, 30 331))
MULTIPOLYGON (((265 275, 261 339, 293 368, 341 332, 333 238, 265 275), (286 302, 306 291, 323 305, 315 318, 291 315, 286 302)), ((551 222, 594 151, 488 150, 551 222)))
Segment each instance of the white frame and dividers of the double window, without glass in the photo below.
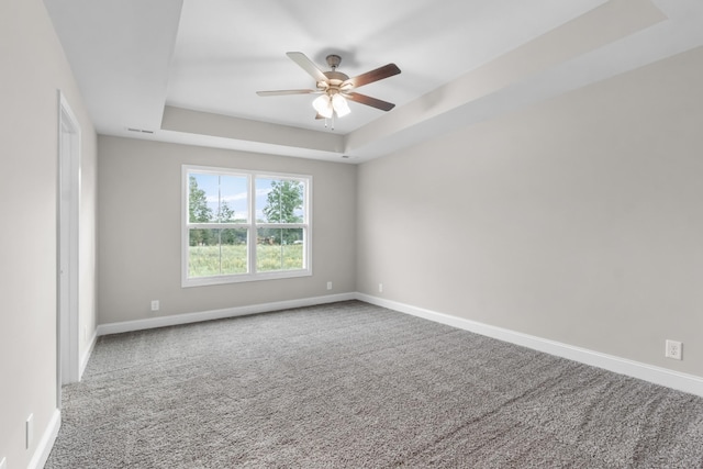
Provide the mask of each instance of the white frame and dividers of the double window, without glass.
POLYGON ((253 171, 235 168, 211 166, 181 166, 181 287, 201 287, 248 281, 286 279, 312 276, 312 176, 288 172, 253 171), (247 177, 248 220, 246 223, 190 223, 189 221, 189 174, 245 176, 247 177), (256 180, 257 178, 293 179, 303 182, 303 223, 263 223, 256 221, 256 180), (188 260, 191 228, 246 228, 247 265, 246 273, 227 273, 210 277, 189 277, 188 260), (303 268, 291 270, 256 271, 256 246, 258 228, 302 228, 303 230, 303 268))

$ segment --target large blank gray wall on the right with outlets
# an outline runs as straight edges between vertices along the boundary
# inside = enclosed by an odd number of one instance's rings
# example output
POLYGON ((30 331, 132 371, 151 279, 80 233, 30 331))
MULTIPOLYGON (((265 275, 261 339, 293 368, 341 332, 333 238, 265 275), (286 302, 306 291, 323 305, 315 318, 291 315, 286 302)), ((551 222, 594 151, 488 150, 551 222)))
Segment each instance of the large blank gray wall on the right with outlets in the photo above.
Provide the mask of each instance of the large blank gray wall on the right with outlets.
POLYGON ((361 165, 358 290, 703 376, 701 77, 698 48, 361 165))

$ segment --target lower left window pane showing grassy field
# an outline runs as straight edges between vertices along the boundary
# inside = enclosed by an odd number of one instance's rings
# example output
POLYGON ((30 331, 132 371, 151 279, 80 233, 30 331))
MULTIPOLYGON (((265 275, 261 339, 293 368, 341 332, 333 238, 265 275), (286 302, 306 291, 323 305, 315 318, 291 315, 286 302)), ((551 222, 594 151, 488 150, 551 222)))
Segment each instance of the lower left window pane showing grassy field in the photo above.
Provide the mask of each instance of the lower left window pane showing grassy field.
POLYGON ((246 273, 247 230, 190 230, 188 277, 246 273))

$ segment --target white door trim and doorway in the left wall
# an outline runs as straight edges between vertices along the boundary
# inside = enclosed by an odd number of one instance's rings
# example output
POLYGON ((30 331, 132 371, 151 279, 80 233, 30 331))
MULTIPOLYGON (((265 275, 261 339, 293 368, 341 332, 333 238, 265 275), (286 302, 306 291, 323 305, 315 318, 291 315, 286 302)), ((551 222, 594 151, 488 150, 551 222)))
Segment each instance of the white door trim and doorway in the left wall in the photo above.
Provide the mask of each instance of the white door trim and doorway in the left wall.
POLYGON ((80 125, 58 91, 57 406, 60 387, 80 380, 78 269, 80 125))

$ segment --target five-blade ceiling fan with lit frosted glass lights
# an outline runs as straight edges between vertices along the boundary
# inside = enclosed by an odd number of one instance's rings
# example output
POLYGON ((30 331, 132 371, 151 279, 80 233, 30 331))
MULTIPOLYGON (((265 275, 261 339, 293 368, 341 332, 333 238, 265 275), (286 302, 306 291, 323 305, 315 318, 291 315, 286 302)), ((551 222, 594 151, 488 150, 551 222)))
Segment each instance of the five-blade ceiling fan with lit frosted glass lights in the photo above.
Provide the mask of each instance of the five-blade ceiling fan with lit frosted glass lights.
MULTIPOLYGON (((316 98, 312 105, 317 111, 315 119, 332 119, 334 125, 334 116, 343 118, 352 110, 347 100, 352 100, 381 111, 390 111, 395 104, 371 98, 366 94, 354 92, 356 88, 379 81, 393 75, 400 74, 400 68, 395 64, 388 64, 375 70, 367 71, 354 78, 337 71, 337 67, 342 62, 342 57, 331 54, 327 56, 327 65, 331 71, 322 71, 317 66, 301 52, 286 53, 295 64, 310 74, 315 79, 316 89, 306 90, 278 90, 278 91, 257 91, 258 96, 283 96, 283 94, 321 94, 316 98)), ((333 127, 334 129, 334 127, 333 127)))

